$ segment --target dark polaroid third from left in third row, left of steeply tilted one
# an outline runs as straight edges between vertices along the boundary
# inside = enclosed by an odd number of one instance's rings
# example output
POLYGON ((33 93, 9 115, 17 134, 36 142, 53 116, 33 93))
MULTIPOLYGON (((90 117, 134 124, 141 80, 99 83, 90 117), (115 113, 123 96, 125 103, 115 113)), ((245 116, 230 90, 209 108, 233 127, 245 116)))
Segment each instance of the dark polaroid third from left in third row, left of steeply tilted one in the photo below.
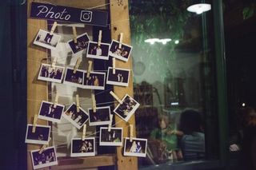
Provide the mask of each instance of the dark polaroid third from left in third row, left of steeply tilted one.
POLYGON ((109 125, 110 124, 110 106, 97 107, 96 113, 93 109, 88 109, 89 113, 89 125, 109 125))

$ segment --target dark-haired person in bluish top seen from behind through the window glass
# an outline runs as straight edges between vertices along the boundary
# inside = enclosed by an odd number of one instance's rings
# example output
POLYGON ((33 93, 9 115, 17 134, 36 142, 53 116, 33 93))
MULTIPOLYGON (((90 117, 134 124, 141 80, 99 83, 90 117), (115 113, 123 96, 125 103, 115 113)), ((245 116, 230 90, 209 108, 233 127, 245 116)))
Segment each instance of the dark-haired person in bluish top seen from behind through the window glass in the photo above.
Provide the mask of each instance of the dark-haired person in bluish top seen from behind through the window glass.
POLYGON ((198 160, 205 157, 205 134, 202 132, 202 117, 198 111, 187 109, 180 117, 180 140, 184 160, 198 160))

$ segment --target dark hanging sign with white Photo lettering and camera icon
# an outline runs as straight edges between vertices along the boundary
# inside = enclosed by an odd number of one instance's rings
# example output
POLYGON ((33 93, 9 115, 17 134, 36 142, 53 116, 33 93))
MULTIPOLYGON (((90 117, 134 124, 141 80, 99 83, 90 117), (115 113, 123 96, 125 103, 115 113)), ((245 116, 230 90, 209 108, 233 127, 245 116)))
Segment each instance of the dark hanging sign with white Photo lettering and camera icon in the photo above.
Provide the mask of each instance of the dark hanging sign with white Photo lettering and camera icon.
POLYGON ((32 2, 30 17, 62 22, 84 23, 94 26, 107 26, 108 14, 106 11, 84 10, 32 2))

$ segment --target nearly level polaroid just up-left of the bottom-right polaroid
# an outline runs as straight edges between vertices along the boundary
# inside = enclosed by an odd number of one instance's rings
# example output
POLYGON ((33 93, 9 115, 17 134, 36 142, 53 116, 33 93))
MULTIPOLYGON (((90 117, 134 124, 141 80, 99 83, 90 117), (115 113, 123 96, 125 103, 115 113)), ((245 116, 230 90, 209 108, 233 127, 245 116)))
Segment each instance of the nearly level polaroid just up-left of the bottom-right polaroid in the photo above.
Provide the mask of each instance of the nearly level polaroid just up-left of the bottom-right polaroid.
POLYGON ((122 128, 100 128, 99 136, 100 146, 122 146, 122 128))

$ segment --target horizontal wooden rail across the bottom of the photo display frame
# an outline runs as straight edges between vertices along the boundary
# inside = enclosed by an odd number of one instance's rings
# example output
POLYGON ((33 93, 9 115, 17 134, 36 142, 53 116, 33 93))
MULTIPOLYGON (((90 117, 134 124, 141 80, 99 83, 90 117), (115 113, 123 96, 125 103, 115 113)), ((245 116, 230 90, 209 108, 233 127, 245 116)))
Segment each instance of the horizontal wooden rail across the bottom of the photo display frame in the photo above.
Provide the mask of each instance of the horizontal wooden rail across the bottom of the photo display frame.
POLYGON ((58 158, 58 165, 52 166, 53 170, 68 170, 68 169, 85 169, 94 168, 101 166, 111 166, 115 165, 116 156, 115 155, 100 155, 100 156, 90 156, 81 158, 58 158))

